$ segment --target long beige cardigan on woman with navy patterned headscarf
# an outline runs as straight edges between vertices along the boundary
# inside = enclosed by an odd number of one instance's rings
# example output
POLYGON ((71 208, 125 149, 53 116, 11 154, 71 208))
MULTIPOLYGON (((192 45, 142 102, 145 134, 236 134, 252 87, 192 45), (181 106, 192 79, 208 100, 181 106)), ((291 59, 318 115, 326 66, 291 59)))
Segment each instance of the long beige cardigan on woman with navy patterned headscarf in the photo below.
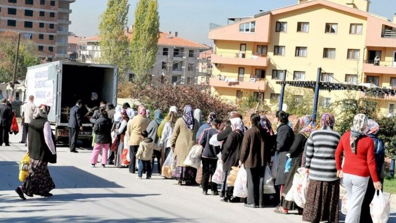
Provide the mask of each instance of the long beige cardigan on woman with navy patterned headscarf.
POLYGON ((195 136, 198 129, 199 123, 196 119, 193 131, 187 128, 183 118, 177 119, 171 138, 171 146, 175 148, 173 160, 177 156, 177 166, 185 166, 183 162, 187 158, 191 147, 196 144, 195 136))

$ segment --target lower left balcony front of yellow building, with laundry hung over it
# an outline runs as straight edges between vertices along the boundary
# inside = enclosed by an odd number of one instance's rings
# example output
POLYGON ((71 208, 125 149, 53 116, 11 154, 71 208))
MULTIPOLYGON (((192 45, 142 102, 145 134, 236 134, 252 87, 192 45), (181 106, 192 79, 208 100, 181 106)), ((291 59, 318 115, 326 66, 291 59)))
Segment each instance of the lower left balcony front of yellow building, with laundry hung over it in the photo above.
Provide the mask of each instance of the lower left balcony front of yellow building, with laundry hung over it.
POLYGON ((249 89, 249 90, 267 90, 267 80, 257 78, 227 78, 225 76, 211 77, 209 79, 209 85, 212 87, 224 87, 224 88, 238 88, 238 89, 249 89))

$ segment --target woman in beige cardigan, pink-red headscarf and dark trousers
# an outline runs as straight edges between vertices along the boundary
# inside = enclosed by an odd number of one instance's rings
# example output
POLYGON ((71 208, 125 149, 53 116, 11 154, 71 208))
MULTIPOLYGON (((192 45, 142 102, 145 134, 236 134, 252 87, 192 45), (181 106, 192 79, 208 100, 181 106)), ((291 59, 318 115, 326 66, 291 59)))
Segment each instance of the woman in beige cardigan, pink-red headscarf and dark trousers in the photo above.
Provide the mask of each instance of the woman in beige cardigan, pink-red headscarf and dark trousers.
POLYGON ((147 130, 147 127, 148 119, 146 117, 146 108, 141 105, 137 108, 137 115, 133 116, 133 118, 129 120, 126 130, 126 134, 129 138, 129 158, 131 159, 131 163, 129 164, 129 173, 135 173, 136 171, 135 156, 137 149, 139 148, 140 140, 142 139, 141 132, 147 130))

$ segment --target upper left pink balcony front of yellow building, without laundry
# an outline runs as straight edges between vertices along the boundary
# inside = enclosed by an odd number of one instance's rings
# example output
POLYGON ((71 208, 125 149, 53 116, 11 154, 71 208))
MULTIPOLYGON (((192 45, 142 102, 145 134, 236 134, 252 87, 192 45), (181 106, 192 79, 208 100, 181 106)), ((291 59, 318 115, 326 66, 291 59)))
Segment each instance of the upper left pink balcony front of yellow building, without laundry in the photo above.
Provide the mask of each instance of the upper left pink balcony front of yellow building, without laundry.
POLYGON ((215 52, 212 54, 211 62, 257 67, 268 66, 267 56, 231 52, 215 52))

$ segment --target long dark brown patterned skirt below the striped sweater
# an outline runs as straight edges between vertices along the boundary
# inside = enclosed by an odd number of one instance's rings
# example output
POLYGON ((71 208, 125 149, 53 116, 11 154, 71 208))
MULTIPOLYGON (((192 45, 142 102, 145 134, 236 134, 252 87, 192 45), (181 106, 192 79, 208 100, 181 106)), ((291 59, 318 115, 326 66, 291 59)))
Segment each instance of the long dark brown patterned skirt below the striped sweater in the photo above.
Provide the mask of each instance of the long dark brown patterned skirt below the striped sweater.
POLYGON ((339 220, 340 180, 309 181, 307 202, 303 212, 303 221, 338 222, 339 220))

